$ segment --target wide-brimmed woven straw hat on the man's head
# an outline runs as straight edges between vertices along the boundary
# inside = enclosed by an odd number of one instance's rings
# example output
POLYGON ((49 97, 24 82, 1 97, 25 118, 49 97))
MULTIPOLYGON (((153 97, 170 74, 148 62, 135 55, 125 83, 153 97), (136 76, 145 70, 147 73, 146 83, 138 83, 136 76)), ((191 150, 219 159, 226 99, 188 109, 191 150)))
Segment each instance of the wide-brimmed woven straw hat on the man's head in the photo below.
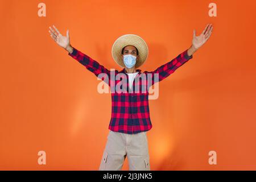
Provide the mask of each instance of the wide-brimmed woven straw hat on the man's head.
POLYGON ((144 63, 144 61, 146 61, 148 56, 147 44, 138 35, 126 34, 126 35, 120 36, 117 40, 115 40, 112 46, 113 59, 119 66, 125 67, 125 64, 123 63, 123 59, 122 59, 122 49, 123 47, 126 47, 128 45, 135 46, 138 49, 139 58, 135 64, 135 68, 138 68, 144 63))

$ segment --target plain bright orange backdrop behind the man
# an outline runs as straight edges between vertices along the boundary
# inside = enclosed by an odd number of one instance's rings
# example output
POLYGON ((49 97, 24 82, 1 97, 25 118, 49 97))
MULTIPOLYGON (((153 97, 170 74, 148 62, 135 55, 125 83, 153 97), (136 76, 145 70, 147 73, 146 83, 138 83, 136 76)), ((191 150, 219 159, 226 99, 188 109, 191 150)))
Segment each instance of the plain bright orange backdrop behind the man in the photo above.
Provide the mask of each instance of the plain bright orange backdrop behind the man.
MULTIPOLYGON (((53 24, 71 45, 106 68, 123 34, 149 48, 152 71, 192 44, 193 29, 213 32, 193 59, 159 83, 150 100, 151 170, 256 169, 255 1, 1 1, 1 170, 97 170, 111 116, 100 81, 49 36, 53 24), (254 12, 253 12, 254 11, 254 12), (46 151, 46 165, 38 151, 46 151), (208 163, 217 152, 217 165, 208 163)), ((123 166, 128 169, 127 159, 123 166)))

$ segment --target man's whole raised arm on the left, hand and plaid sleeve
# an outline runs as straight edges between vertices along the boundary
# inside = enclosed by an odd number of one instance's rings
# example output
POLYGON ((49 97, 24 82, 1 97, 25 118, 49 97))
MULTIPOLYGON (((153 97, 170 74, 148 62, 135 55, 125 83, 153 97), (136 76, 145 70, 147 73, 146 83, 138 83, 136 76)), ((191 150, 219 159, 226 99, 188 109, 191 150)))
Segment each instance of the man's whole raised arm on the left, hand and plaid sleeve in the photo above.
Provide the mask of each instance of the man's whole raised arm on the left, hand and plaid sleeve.
POLYGON ((72 47, 69 39, 69 30, 67 30, 67 35, 63 36, 60 34, 59 30, 53 25, 49 27, 49 33, 51 34, 51 38, 60 46, 63 47, 66 51, 68 51, 68 55, 76 59, 86 67, 90 72, 94 73, 94 75, 98 76, 100 73, 105 73, 106 75, 101 77, 109 85, 110 71, 106 69, 103 65, 99 64, 96 60, 93 60, 88 55, 80 52, 76 48, 72 47), (53 30, 54 28, 54 30, 53 30), (106 79, 108 76, 108 79, 106 79))

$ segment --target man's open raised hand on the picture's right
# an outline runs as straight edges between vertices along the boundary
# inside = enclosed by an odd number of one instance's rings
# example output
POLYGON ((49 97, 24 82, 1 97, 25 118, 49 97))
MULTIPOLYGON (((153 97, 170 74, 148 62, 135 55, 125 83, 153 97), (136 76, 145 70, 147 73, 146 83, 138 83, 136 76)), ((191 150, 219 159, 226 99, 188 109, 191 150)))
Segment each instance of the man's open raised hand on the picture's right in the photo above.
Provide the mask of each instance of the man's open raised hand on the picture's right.
POLYGON ((193 30, 192 45, 196 49, 203 46, 203 44, 207 42, 207 40, 210 38, 210 34, 212 34, 212 29, 212 24, 207 24, 207 27, 204 28, 204 31, 199 36, 196 36, 196 30, 193 30))

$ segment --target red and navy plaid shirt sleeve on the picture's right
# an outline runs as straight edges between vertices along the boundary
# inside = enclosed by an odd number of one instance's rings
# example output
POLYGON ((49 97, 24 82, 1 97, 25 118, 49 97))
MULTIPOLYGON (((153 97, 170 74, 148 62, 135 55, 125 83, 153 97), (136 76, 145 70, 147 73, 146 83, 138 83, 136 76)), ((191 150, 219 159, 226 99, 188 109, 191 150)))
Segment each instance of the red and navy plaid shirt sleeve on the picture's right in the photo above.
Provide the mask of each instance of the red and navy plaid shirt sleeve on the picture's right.
POLYGON ((161 65, 152 72, 146 72, 147 74, 151 73, 152 84, 150 85, 154 85, 156 82, 164 80, 164 78, 170 76, 177 68, 181 67, 181 65, 187 63, 187 61, 192 58, 193 55, 188 56, 188 49, 186 49, 168 63, 161 65), (158 76, 156 74, 158 74, 158 76))

